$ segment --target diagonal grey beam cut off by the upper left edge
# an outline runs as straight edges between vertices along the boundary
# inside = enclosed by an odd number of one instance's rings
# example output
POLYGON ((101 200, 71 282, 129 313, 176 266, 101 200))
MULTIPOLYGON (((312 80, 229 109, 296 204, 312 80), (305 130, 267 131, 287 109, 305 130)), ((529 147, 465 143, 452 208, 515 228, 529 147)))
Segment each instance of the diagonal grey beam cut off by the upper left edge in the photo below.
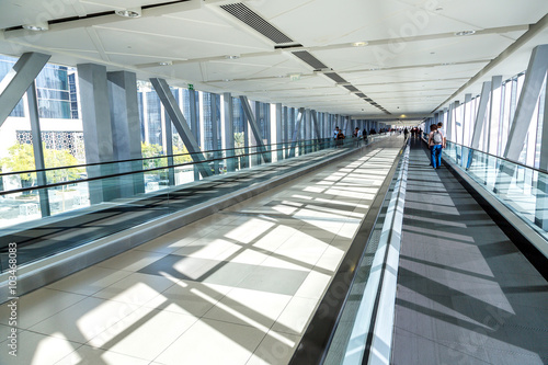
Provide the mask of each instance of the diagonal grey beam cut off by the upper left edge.
POLYGON ((0 82, 0 127, 49 60, 49 55, 23 54, 0 82))

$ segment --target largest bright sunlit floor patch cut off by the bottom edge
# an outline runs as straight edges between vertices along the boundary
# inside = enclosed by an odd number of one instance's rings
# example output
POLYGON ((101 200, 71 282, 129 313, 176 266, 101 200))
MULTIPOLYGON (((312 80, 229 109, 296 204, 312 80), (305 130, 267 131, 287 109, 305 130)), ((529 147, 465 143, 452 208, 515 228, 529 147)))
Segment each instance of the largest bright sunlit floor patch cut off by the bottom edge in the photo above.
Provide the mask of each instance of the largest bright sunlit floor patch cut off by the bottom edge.
POLYGON ((265 333, 248 326, 204 319, 155 361, 163 364, 243 365, 265 333))

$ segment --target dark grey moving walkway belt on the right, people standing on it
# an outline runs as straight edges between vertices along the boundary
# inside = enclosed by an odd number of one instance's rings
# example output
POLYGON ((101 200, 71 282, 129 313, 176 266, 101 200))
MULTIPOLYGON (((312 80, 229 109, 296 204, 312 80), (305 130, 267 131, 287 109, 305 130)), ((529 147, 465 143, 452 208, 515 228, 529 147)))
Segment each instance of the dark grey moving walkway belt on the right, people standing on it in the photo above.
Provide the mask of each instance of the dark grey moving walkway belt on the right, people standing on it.
POLYGON ((548 364, 548 283, 411 140, 392 364, 548 364))

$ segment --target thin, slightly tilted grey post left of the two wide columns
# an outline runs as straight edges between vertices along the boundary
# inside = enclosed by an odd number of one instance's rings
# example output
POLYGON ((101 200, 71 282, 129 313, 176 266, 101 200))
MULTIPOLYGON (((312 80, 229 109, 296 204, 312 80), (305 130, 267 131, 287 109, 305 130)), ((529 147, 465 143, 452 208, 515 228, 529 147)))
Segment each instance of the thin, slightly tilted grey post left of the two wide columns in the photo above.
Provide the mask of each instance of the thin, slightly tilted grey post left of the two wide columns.
MULTIPOLYGON (((38 101, 36 95, 36 83, 33 81, 26 91, 26 100, 28 101, 28 116, 31 119, 31 134, 33 136, 34 166, 36 170, 44 170, 44 149, 42 147, 42 132, 39 128, 38 101)), ((0 179, 1 180, 1 179, 0 179)), ((47 184, 46 172, 36 172, 38 186, 47 184)), ((49 195, 47 189, 39 189, 39 209, 43 217, 52 215, 49 208, 49 195)))

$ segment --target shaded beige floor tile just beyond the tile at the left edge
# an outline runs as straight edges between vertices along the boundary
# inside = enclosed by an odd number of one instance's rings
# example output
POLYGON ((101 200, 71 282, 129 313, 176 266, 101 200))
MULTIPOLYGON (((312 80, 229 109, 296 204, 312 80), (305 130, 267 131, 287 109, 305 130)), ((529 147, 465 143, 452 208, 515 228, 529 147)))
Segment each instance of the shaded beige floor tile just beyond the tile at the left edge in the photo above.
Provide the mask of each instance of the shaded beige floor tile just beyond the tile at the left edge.
POLYGON ((94 265, 55 282, 47 287, 81 295, 92 295, 123 280, 129 274, 130 272, 94 265))

